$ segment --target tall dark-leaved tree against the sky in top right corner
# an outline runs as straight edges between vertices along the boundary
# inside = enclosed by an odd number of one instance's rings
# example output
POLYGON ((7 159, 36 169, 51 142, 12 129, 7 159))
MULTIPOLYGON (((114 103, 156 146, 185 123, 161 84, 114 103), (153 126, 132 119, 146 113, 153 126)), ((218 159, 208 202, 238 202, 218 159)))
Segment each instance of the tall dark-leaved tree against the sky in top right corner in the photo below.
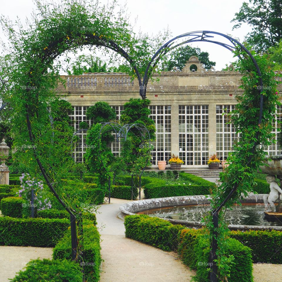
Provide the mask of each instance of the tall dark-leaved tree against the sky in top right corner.
POLYGON ((251 26, 252 31, 247 34, 246 41, 254 46, 256 51, 266 51, 282 38, 282 2, 277 0, 249 0, 244 2, 235 18, 237 22, 233 29, 242 23, 251 26))

